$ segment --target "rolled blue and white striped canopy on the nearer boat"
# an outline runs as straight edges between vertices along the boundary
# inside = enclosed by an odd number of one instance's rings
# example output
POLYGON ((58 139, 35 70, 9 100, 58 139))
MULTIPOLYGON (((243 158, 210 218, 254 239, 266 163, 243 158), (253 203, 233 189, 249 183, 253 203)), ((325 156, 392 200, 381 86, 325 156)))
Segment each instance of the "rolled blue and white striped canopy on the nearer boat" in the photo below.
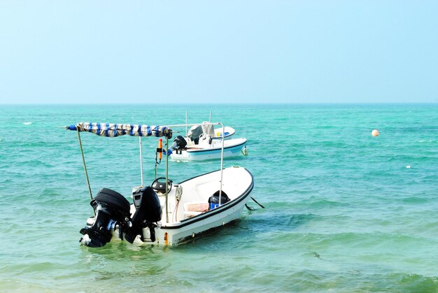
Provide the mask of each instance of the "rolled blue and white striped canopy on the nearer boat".
POLYGON ((118 123, 90 123, 80 122, 66 126, 66 129, 92 132, 98 136, 115 137, 122 135, 129 136, 164 136, 172 137, 172 129, 165 126, 149 126, 146 124, 118 124, 118 123))

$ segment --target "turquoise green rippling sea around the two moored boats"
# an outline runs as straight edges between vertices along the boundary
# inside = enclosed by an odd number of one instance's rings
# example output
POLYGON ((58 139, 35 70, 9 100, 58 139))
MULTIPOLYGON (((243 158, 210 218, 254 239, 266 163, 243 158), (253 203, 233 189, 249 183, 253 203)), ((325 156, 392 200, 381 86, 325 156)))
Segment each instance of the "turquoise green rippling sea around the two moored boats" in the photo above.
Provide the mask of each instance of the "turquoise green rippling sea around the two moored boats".
MULTIPOLYGON (((132 201, 139 138, 81 141, 92 193, 132 201)), ((157 138, 142 145, 148 185, 157 138)), ((217 169, 171 161, 169 178, 217 169)), ((0 252, 0 292, 438 292, 438 104, 1 105, 0 252), (64 126, 186 117, 247 138, 248 155, 224 166, 253 174, 260 205, 176 247, 80 246, 93 210, 64 126)))

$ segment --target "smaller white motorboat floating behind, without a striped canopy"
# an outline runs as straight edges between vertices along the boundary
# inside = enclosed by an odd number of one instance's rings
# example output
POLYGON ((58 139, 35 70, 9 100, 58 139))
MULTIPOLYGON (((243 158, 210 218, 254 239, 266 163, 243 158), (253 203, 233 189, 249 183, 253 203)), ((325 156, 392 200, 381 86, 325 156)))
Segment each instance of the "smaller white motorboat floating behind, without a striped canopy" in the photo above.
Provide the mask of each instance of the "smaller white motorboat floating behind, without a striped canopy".
POLYGON ((178 161, 204 161, 220 159, 220 157, 234 157, 240 154, 247 155, 246 138, 227 137, 234 134, 232 127, 223 127, 221 131, 213 130, 213 124, 203 122, 195 124, 187 136, 177 136, 168 153, 172 159, 178 161), (222 140, 222 134, 225 141, 222 140), (223 150, 222 150, 223 146, 223 150))

